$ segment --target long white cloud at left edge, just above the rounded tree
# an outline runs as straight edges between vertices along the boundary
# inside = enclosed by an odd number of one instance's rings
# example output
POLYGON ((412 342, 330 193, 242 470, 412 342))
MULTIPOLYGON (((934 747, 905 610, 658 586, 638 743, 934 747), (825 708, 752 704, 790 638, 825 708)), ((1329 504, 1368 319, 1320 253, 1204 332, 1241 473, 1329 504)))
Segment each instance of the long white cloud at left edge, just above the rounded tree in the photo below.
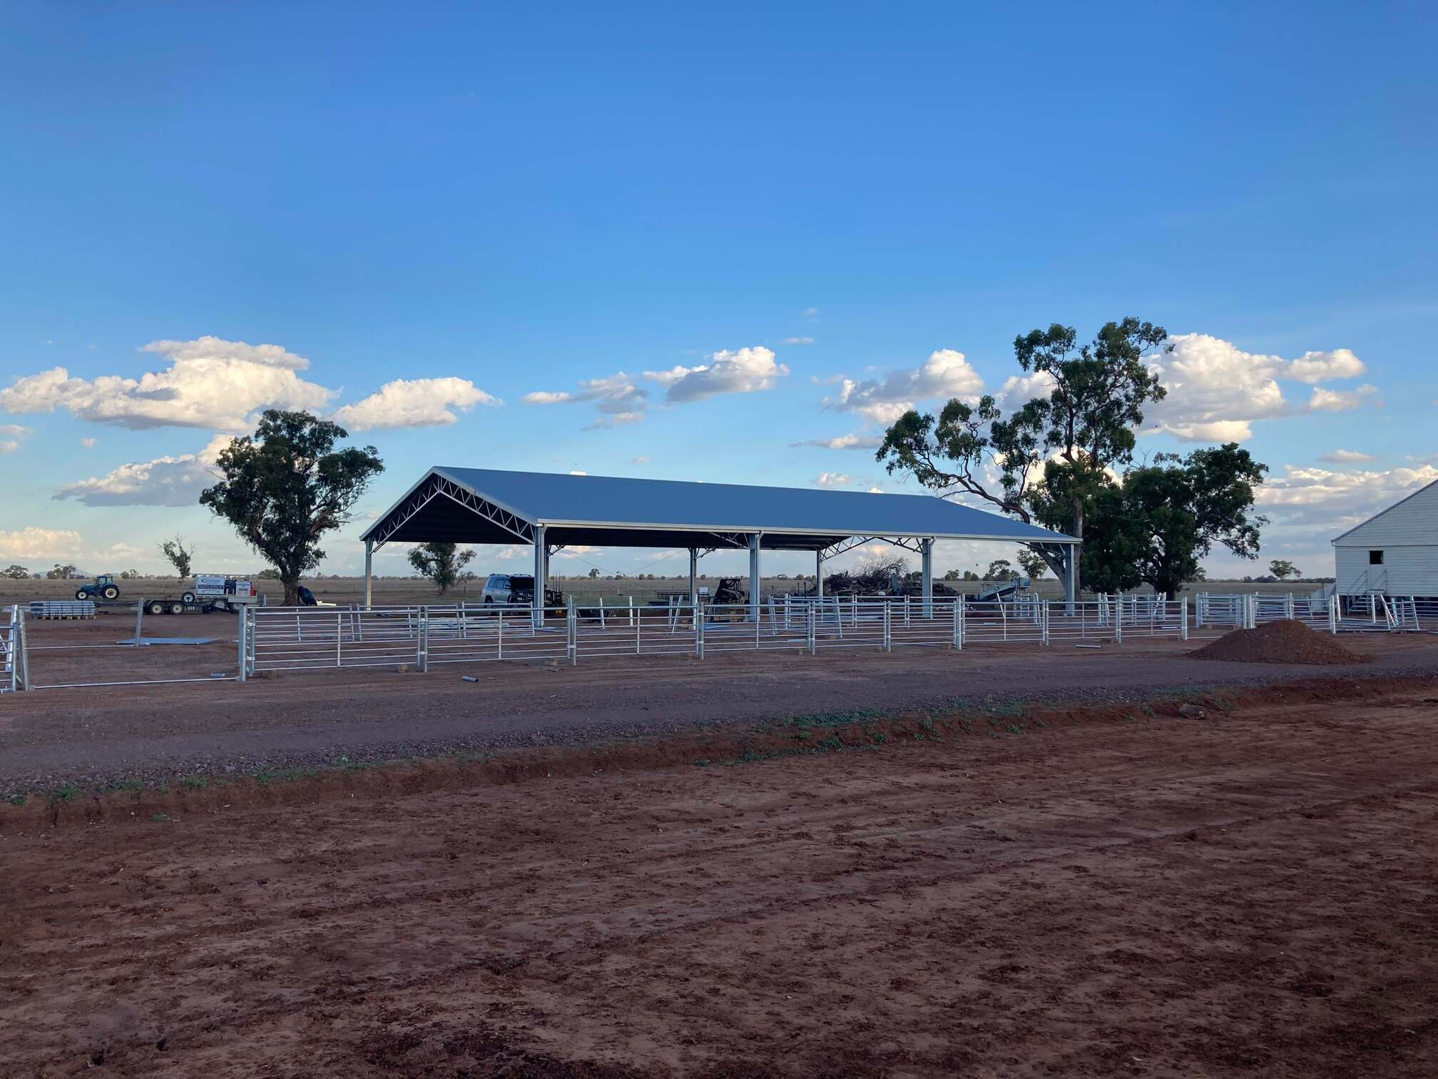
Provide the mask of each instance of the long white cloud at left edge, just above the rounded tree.
POLYGON ((145 352, 170 365, 139 378, 99 375, 73 378, 63 367, 26 375, 0 390, 0 409, 36 413, 65 409, 82 420, 122 427, 206 427, 244 430, 265 407, 319 410, 332 390, 302 380, 302 355, 279 345, 250 345, 201 337, 194 341, 151 341, 145 352))

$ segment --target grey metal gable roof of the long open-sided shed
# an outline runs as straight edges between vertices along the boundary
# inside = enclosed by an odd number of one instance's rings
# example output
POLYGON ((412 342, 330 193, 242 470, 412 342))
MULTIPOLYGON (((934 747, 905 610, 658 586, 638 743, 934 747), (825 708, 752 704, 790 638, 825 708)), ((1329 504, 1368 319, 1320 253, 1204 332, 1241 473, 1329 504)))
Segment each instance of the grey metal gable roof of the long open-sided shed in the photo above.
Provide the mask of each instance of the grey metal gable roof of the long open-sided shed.
POLYGON ((1073 537, 932 495, 431 468, 365 532, 377 542, 823 550, 850 537, 1076 544, 1073 537), (742 541, 739 537, 743 537, 742 541))

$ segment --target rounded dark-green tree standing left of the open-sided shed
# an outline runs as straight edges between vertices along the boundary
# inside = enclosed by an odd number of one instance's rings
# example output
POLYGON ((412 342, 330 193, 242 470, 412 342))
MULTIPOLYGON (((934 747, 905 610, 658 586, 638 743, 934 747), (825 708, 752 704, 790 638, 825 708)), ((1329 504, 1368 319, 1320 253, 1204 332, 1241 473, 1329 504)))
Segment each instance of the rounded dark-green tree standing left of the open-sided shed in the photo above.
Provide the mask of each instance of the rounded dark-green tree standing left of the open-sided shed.
POLYGON ((299 601, 299 578, 325 552, 319 540, 349 521, 370 481, 384 470, 374 446, 335 449, 348 437, 336 423, 306 411, 270 409, 250 439, 220 450, 224 476, 200 504, 232 525, 269 560, 285 584, 285 604, 299 601))

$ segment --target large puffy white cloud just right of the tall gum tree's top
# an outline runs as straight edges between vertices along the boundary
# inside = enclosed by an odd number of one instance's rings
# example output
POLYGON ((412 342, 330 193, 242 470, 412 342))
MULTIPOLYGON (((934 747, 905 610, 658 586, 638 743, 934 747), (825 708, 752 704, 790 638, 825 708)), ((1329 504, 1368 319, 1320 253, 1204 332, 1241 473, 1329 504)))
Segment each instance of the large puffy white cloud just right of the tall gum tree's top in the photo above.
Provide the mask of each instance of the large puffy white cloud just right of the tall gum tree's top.
MULTIPOLYGON (((1145 411, 1149 433, 1163 432, 1183 442, 1245 442, 1252 423, 1291 416, 1303 409, 1284 399, 1280 380, 1313 386, 1350 378, 1366 368, 1347 348, 1304 352, 1297 360, 1245 352, 1209 334, 1169 337, 1169 351, 1150 360, 1168 397, 1145 411)), ((1314 386, 1307 411, 1356 409, 1373 387, 1334 391, 1314 386)))

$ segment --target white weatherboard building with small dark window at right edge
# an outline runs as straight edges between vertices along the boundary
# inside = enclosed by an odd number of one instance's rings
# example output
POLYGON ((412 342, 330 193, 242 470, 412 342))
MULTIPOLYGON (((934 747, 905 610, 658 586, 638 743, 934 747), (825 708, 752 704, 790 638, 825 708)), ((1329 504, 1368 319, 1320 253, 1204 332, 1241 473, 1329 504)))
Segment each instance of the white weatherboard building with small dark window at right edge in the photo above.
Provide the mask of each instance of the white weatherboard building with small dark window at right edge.
POLYGON ((1438 482, 1333 541, 1339 596, 1438 597, 1438 482))

